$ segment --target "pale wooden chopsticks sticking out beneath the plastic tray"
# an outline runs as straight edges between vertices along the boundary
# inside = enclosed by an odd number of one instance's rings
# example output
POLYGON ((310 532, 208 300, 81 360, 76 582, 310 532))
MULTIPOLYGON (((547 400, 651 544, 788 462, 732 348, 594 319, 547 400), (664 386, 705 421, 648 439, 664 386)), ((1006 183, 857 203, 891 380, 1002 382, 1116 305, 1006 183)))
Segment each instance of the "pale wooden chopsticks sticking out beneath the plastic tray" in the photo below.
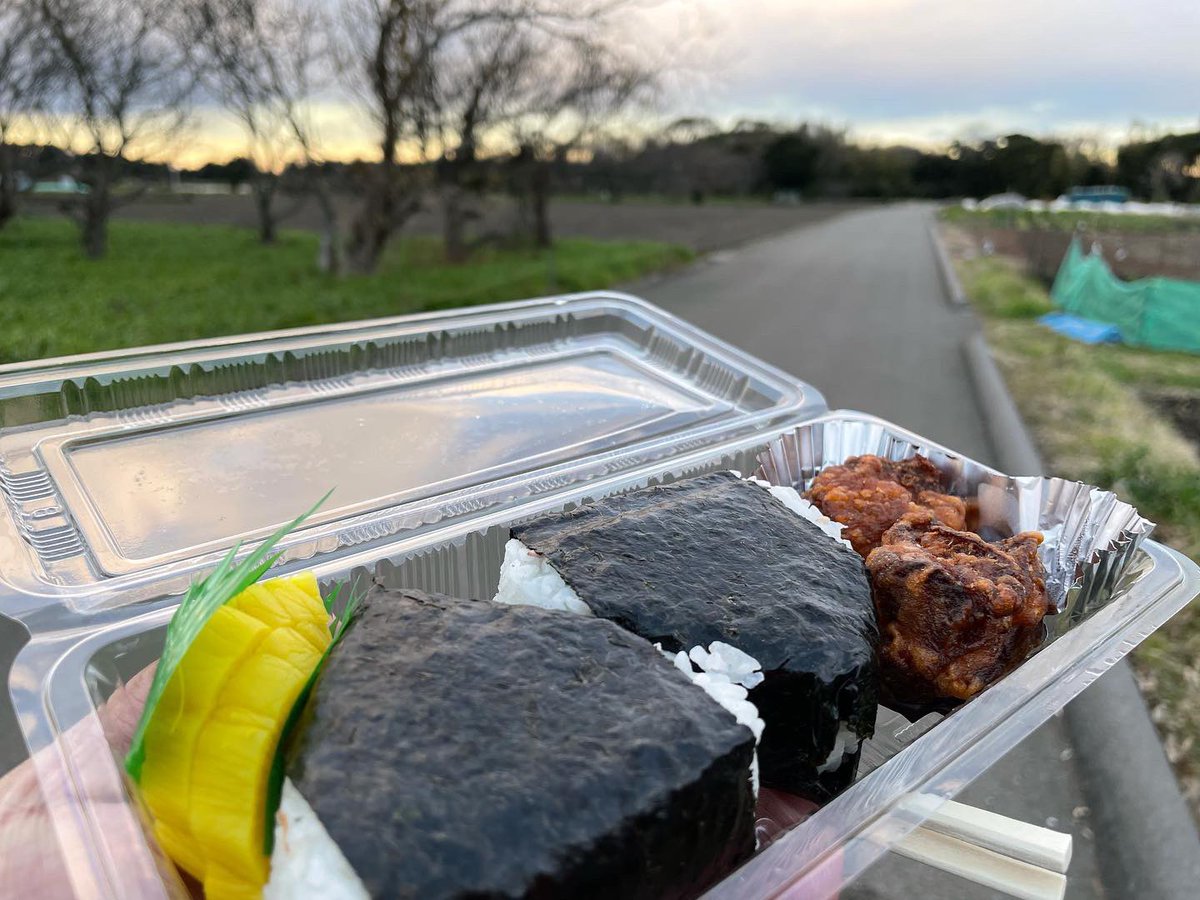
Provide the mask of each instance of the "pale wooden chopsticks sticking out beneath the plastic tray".
POLYGON ((1066 894, 1069 834, 920 794, 904 805, 923 821, 896 853, 1021 900, 1066 894))

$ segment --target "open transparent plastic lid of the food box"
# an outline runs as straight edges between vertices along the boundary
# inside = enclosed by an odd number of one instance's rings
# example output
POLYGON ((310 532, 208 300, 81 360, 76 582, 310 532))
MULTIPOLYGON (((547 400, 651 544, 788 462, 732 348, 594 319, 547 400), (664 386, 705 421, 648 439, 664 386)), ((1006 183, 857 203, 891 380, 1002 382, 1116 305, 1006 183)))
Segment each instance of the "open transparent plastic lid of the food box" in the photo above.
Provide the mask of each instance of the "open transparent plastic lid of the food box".
POLYGON ((620 294, 4 366, 0 613, 181 592, 330 488, 288 558, 824 408, 620 294))

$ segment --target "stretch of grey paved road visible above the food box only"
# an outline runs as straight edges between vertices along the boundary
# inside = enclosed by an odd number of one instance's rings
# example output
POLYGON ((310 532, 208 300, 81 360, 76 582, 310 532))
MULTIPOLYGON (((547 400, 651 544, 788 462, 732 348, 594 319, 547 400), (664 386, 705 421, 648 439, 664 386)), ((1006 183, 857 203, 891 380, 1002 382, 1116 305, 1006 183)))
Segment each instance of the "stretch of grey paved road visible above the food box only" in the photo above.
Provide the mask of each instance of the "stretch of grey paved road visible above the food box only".
POLYGON ((919 206, 878 206, 634 286, 648 300, 811 382, 834 408, 882 415, 991 455, 919 206))

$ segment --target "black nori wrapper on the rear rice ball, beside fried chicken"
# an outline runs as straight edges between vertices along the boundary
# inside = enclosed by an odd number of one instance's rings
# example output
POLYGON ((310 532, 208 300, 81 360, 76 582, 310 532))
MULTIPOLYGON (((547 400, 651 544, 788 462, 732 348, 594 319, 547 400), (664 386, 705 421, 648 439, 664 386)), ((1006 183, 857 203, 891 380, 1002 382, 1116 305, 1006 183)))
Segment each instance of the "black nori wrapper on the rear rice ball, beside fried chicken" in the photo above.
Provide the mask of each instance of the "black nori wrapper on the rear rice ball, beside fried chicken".
POLYGON ((762 784, 815 800, 840 722, 875 727, 878 630, 862 558, 763 487, 722 472, 545 515, 511 529, 592 611, 664 649, 724 641, 758 660, 762 784))

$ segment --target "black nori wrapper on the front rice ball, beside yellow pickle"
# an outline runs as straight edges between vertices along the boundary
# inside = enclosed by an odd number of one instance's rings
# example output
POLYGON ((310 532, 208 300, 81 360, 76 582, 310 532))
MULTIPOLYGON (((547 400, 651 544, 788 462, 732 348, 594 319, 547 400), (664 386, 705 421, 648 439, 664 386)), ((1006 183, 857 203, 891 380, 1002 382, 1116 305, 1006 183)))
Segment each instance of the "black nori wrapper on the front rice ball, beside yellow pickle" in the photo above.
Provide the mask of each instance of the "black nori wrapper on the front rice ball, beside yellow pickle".
POLYGON ((287 773, 373 896, 692 896, 754 851, 754 749, 612 623, 376 587, 287 773))

